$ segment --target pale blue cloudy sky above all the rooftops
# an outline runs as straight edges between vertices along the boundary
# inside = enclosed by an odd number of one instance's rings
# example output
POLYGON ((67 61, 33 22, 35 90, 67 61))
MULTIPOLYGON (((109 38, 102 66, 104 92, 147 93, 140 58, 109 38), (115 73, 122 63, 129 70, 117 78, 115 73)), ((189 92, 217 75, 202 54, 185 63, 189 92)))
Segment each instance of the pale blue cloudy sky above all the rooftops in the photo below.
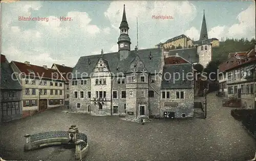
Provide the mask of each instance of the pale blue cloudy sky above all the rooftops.
POLYGON ((254 1, 21 1, 1 3, 2 54, 9 61, 75 66, 79 57, 117 51, 123 4, 131 47, 153 48, 185 34, 197 40, 205 10, 208 36, 255 38, 254 1), (152 19, 153 15, 174 19, 152 19), (19 21, 18 17, 49 21, 19 21), (60 21, 59 17, 72 21, 60 21), (57 18, 53 20, 53 18, 57 18))

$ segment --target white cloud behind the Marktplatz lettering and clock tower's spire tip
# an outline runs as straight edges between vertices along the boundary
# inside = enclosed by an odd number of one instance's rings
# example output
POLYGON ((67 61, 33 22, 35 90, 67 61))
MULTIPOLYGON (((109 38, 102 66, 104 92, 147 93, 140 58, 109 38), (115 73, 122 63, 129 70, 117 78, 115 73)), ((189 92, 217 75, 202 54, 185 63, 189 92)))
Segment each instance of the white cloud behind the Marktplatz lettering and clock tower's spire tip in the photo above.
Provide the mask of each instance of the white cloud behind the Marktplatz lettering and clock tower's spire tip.
POLYGON ((153 25, 172 21, 152 19, 153 15, 173 16, 181 24, 188 23, 196 17, 196 7, 188 1, 113 1, 104 15, 110 20, 112 27, 115 29, 119 27, 121 22, 123 4, 126 6, 125 13, 129 25, 136 24, 136 17, 153 25))

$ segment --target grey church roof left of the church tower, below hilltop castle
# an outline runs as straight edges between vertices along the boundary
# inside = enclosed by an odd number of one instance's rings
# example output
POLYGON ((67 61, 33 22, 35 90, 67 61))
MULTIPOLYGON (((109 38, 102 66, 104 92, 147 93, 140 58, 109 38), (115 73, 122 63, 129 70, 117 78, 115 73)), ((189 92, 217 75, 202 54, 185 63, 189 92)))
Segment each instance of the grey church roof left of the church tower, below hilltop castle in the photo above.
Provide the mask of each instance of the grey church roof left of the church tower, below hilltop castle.
POLYGON ((178 56, 182 57, 188 62, 199 62, 199 56, 197 54, 196 47, 169 50, 168 56, 176 56, 176 53, 178 53, 178 56))

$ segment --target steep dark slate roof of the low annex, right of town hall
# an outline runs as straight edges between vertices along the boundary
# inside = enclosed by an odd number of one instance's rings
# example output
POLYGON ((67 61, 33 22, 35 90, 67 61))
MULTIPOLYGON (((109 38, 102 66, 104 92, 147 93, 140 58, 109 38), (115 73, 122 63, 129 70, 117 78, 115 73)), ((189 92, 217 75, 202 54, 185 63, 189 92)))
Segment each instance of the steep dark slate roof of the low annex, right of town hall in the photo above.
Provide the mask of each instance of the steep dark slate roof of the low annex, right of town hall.
POLYGON ((175 64, 175 65, 164 65, 163 67, 163 75, 162 75, 162 83, 161 89, 189 89, 193 88, 192 81, 193 77, 189 74, 188 79, 186 78, 187 73, 193 73, 193 66, 190 63, 186 64, 175 64), (169 74, 170 73, 170 74, 169 74), (179 74, 175 74, 179 73, 179 74), (184 73, 184 78, 182 77, 182 73, 184 73), (169 82, 167 80, 169 79, 169 82), (183 81, 184 79, 184 81, 183 81))

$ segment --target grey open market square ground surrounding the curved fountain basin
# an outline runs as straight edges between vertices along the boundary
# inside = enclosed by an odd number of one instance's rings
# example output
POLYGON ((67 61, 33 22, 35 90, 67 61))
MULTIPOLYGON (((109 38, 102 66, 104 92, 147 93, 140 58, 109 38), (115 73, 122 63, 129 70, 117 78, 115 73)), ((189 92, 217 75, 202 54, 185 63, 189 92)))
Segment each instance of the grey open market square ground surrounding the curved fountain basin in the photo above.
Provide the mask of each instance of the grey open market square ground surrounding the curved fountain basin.
POLYGON ((118 116, 90 116, 56 108, 1 125, 1 154, 6 160, 74 160, 73 149, 48 147, 24 152, 26 134, 68 130, 77 125, 88 135, 83 160, 245 160, 255 154, 255 141, 221 106, 207 96, 207 119, 153 120, 145 125, 118 116))

